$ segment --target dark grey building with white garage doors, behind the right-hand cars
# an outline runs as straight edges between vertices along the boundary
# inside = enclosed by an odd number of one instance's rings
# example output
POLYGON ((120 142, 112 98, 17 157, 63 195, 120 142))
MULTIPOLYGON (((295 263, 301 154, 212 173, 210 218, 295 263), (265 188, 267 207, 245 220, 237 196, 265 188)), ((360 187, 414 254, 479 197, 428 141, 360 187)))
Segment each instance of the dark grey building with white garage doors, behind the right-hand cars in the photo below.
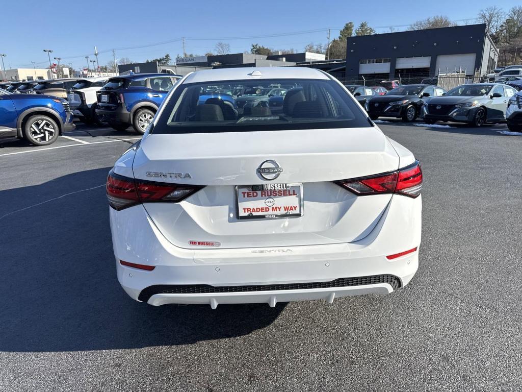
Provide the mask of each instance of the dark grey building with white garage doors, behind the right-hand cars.
POLYGON ((346 78, 398 79, 492 72, 499 57, 486 25, 455 26, 349 37, 346 78))

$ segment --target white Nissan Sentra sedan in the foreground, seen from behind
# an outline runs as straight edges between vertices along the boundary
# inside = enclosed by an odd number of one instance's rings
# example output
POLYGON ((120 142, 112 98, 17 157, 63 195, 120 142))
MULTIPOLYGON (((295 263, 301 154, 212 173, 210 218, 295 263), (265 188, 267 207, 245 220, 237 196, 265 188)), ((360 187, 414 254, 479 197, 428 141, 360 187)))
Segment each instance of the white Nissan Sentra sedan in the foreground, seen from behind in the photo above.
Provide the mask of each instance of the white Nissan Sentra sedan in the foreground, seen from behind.
POLYGON ((421 187, 413 154, 328 74, 198 71, 109 173, 118 280, 151 305, 387 294, 418 268, 421 187))

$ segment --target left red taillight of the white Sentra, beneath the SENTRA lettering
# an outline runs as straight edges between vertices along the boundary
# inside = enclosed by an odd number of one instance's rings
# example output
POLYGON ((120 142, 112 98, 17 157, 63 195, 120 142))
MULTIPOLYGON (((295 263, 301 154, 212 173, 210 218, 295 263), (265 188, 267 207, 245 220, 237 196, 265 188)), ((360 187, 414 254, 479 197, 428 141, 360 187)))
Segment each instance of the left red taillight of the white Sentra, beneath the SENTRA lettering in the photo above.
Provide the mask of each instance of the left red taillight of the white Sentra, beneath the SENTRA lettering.
POLYGON ((203 187, 150 182, 123 177, 112 170, 107 177, 107 198, 115 210, 139 203, 180 202, 203 187))

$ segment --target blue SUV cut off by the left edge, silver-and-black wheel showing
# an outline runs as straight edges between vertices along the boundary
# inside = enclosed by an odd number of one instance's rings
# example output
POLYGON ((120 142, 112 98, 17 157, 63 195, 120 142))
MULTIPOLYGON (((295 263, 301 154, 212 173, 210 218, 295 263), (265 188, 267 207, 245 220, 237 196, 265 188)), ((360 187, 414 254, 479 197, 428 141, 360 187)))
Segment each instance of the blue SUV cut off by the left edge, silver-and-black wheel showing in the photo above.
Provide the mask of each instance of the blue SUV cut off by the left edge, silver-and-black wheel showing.
POLYGON ((0 89, 0 137, 26 139, 37 146, 52 144, 75 129, 73 112, 62 98, 11 94, 0 89))

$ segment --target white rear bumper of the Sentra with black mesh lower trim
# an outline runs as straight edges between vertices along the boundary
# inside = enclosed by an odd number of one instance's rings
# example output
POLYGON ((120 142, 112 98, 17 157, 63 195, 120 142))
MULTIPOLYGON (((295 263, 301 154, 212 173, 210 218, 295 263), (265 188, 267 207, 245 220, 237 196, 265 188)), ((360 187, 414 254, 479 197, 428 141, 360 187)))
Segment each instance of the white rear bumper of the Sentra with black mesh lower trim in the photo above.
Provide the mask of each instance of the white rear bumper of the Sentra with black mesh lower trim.
POLYGON ((275 306, 304 299, 331 302, 336 297, 387 294, 405 286, 417 271, 418 250, 393 260, 386 255, 419 247, 421 206, 420 197, 394 195, 372 232, 355 243, 198 250, 171 244, 142 205, 110 209, 118 281, 129 296, 151 305, 275 306), (120 260, 155 269, 125 267, 120 260), (393 278, 377 278, 381 275, 393 278))

